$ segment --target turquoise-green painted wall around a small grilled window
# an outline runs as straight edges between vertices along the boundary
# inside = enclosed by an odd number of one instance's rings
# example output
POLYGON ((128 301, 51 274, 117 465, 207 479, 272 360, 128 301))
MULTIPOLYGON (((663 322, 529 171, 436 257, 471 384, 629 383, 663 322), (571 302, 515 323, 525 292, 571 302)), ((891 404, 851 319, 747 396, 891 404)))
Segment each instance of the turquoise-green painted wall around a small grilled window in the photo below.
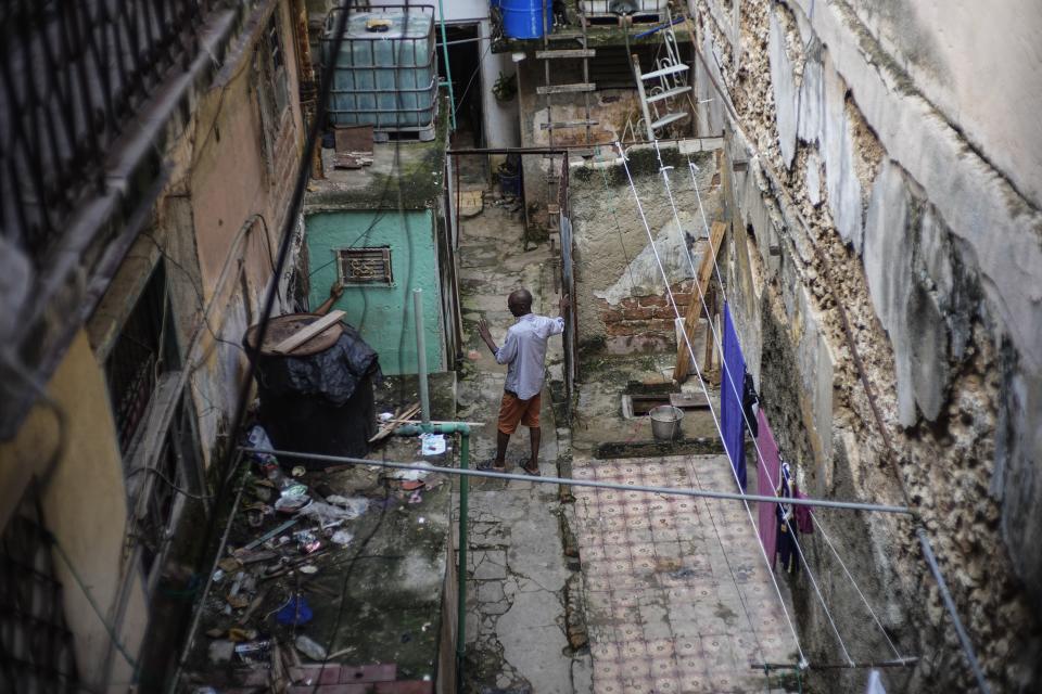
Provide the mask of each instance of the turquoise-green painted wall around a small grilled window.
POLYGON ((348 285, 333 308, 346 311, 347 322, 380 354, 383 373, 416 373, 412 290, 423 290, 427 368, 444 371, 445 321, 431 210, 318 213, 309 215, 305 224, 310 305, 317 307, 329 298, 329 287, 336 281, 334 249, 390 246, 394 285, 348 285))

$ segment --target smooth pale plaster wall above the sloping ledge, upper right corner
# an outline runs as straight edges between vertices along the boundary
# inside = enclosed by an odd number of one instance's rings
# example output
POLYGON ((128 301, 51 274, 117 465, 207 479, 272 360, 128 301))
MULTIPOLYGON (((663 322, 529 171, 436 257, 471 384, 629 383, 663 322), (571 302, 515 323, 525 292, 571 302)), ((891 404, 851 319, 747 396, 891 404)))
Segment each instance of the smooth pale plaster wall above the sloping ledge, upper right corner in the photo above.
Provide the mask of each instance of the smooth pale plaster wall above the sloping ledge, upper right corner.
MULTIPOLYGON (((799 0, 813 12, 812 0, 799 0)), ((1042 206, 1042 3, 868 0, 857 18, 928 101, 1042 206)))

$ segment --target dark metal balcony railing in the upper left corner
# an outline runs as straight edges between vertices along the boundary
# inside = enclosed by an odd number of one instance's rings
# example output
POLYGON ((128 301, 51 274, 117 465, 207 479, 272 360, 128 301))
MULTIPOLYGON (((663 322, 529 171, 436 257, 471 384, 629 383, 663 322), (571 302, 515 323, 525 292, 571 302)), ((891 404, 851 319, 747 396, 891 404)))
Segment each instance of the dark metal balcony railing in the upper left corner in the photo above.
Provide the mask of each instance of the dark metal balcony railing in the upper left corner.
POLYGON ((188 68, 216 0, 0 4, 0 235, 37 264, 169 68, 188 68))

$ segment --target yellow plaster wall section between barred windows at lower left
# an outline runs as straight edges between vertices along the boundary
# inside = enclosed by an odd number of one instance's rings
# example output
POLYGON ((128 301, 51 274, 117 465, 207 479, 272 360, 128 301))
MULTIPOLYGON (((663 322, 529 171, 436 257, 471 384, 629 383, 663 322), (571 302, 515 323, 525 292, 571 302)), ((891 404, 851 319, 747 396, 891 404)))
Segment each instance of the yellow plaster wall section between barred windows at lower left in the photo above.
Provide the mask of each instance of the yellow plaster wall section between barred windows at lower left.
MULTIPOLYGON (((54 574, 62 583, 60 594, 73 634, 80 682, 102 689, 109 683, 104 680, 104 664, 111 639, 90 601, 111 619, 119 589, 114 577, 125 569, 126 563, 128 504, 115 424, 109 408, 99 407, 109 400, 104 373, 84 331, 73 339, 47 390, 66 414, 64 448, 59 447, 54 412, 42 404, 30 411, 14 439, 0 444, 0 519, 7 525, 7 514, 14 511, 29 480, 46 474, 53 462, 52 475, 41 485, 42 517, 90 595, 84 593, 69 564, 56 552, 52 553, 54 574), (52 461, 55 454, 60 458, 52 461)), ((120 642, 131 654, 140 647, 148 624, 138 577, 135 571, 130 614, 116 626, 120 642)), ((118 655, 113 663, 111 681, 131 681, 132 667, 118 655)))

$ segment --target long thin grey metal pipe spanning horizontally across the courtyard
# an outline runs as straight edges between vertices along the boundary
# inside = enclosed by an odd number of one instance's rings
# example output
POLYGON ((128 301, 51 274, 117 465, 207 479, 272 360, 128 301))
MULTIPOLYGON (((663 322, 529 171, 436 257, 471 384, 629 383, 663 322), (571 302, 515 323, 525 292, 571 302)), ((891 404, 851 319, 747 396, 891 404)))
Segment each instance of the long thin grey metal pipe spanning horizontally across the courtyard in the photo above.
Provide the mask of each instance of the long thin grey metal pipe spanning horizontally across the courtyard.
MULTIPOLYGON (((409 427, 408 430, 406 427, 398 427, 398 432, 402 432, 403 435, 410 436, 416 435, 422 432, 440 432, 440 433, 452 433, 453 430, 461 430, 460 428, 452 428, 453 425, 443 425, 442 427, 434 426, 432 424, 420 425, 418 427, 409 427)), ((457 424, 457 427, 463 425, 457 424)), ((468 427, 468 432, 469 432, 468 427)), ((393 470, 421 470, 423 472, 431 472, 430 466, 428 465, 417 465, 416 463, 392 463, 383 460, 368 460, 365 458, 347 458, 344 455, 322 455, 319 453, 301 453, 296 451, 280 451, 280 450, 268 450, 262 448, 249 448, 240 447, 240 450, 247 453, 271 453, 278 458, 301 458, 309 459, 314 461, 328 461, 330 463, 343 463, 348 465, 373 465, 377 467, 390 467, 393 470)), ((819 506, 824 509, 843 509, 848 511, 872 511, 877 513, 899 513, 905 515, 916 515, 914 511, 907 506, 890 506, 887 504, 879 503, 860 503, 856 501, 827 501, 825 499, 795 499, 795 498, 785 498, 779 499, 778 497, 766 497, 762 494, 742 494, 730 491, 710 491, 707 489, 675 489, 669 487, 649 487, 647 485, 618 485, 608 481, 593 481, 587 479, 573 479, 567 477, 548 477, 539 476, 532 477, 531 475, 516 475, 513 473, 494 473, 492 471, 485 470, 458 470, 455 467, 439 467, 437 472, 445 473, 446 475, 461 475, 465 477, 490 477, 492 479, 513 479, 517 481, 532 481, 539 483, 544 485, 570 485, 572 487, 590 487, 594 489, 617 489, 620 491, 645 491, 652 494, 673 494, 676 497, 697 497, 702 499, 724 499, 728 501, 759 501, 762 503, 778 503, 778 501, 785 501, 787 504, 792 504, 797 506, 819 506)))

